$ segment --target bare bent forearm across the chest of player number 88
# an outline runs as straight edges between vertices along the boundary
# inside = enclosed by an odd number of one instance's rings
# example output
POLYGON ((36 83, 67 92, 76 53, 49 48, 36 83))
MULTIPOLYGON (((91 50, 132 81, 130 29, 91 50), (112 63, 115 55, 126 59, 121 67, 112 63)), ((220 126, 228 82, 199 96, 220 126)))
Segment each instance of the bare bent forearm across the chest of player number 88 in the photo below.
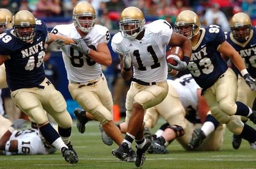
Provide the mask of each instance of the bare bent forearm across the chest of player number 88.
POLYGON ((110 66, 112 64, 111 55, 108 53, 96 52, 95 50, 91 49, 88 55, 92 60, 94 60, 99 64, 102 64, 105 66, 110 66))

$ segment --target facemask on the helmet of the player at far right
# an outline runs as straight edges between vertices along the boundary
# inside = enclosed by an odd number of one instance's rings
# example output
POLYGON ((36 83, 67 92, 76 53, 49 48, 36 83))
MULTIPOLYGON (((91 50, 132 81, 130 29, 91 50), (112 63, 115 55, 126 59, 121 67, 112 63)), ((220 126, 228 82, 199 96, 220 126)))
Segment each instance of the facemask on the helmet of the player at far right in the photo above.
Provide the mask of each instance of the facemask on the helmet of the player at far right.
POLYGON ((235 40, 240 43, 244 43, 248 40, 251 29, 252 25, 244 25, 242 27, 232 27, 231 31, 235 40))

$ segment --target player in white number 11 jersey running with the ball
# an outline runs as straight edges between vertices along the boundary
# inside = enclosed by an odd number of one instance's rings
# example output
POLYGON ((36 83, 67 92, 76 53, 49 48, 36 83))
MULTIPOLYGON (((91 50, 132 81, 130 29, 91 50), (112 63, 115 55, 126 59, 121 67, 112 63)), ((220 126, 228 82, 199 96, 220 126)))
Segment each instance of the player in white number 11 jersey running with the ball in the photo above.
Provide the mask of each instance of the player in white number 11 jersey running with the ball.
POLYGON ((120 32, 112 38, 111 47, 120 55, 121 75, 125 80, 132 78, 132 83, 126 95, 127 132, 122 145, 112 154, 124 158, 135 139, 135 165, 138 167, 145 161, 145 152, 151 145, 143 135, 144 113, 161 103, 168 94, 166 45, 183 49, 184 61, 178 65, 183 70, 191 55, 191 42, 183 35, 173 33, 171 25, 164 20, 145 25, 144 14, 136 7, 127 7, 121 12, 119 29, 120 32))

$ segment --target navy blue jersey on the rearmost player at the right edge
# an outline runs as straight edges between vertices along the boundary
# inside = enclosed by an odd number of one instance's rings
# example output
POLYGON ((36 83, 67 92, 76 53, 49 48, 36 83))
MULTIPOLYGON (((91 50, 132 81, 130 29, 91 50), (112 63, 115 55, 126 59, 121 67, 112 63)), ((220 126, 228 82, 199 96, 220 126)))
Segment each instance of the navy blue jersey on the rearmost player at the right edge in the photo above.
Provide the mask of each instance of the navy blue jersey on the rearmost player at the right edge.
MULTIPOLYGON (((228 32, 227 42, 230 43, 241 55, 248 73, 253 78, 256 78, 256 28, 253 27, 249 39, 244 43, 239 43, 237 40, 234 39, 233 34, 231 32, 228 32)), ((235 67, 233 63, 232 69, 235 71, 236 74, 240 73, 240 71, 235 67)))

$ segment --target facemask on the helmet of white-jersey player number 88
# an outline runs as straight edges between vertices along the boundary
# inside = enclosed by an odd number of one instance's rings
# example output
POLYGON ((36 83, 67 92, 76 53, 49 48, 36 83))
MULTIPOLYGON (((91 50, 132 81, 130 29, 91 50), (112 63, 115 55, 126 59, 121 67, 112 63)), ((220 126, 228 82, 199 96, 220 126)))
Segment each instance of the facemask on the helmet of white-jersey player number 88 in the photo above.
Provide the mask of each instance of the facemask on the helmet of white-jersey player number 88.
POLYGON ((96 22, 96 14, 91 13, 83 13, 83 14, 75 14, 73 16, 73 23, 75 24, 75 27, 80 29, 82 32, 88 33, 90 30, 94 27, 96 22), (90 18, 90 20, 84 20, 85 18, 90 18))

